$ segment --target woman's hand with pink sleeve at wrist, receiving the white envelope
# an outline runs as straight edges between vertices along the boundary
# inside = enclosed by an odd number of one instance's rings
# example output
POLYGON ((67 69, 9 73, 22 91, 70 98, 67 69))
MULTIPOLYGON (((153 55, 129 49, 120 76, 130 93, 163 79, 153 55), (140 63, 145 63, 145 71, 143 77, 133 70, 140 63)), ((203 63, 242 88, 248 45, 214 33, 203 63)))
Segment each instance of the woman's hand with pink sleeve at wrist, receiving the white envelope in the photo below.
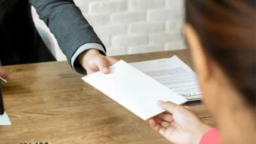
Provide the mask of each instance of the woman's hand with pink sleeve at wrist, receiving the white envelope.
POLYGON ((172 102, 158 102, 158 106, 165 109, 165 113, 150 118, 150 126, 176 144, 198 144, 202 135, 210 130, 210 126, 184 106, 172 102))

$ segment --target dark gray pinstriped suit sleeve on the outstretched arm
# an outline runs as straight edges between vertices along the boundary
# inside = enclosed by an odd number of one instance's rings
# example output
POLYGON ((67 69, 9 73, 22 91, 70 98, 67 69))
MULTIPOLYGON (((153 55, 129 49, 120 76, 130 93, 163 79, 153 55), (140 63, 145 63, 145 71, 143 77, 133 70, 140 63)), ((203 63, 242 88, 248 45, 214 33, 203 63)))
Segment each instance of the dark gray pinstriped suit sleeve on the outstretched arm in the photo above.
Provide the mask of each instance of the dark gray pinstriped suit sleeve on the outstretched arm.
MULTIPOLYGON (((83 44, 102 41, 72 0, 29 0, 39 18, 50 28, 71 65, 72 55, 83 44)), ((102 52, 102 54, 105 54, 102 52)))

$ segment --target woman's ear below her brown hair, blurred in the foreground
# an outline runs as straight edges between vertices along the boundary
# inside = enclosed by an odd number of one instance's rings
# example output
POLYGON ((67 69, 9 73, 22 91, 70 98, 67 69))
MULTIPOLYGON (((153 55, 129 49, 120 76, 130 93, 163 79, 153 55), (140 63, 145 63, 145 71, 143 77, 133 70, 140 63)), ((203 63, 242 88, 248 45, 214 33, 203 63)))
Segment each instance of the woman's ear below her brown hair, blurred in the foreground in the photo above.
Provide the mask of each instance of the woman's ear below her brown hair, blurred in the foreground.
POLYGON ((184 26, 184 35, 191 51, 191 58, 195 72, 198 75, 198 80, 205 82, 210 77, 210 67, 208 64, 208 58, 203 50, 199 37, 194 28, 188 24, 184 26))

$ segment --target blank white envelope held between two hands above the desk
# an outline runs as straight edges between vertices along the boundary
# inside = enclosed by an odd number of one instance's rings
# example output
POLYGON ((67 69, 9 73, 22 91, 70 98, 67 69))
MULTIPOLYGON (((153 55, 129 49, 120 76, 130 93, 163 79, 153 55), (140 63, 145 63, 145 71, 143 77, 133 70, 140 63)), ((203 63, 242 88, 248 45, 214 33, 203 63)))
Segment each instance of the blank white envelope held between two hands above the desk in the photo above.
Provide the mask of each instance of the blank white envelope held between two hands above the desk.
POLYGON ((178 105, 187 102, 187 99, 122 60, 110 67, 109 74, 95 72, 82 79, 143 120, 164 112, 158 107, 158 100, 178 105))

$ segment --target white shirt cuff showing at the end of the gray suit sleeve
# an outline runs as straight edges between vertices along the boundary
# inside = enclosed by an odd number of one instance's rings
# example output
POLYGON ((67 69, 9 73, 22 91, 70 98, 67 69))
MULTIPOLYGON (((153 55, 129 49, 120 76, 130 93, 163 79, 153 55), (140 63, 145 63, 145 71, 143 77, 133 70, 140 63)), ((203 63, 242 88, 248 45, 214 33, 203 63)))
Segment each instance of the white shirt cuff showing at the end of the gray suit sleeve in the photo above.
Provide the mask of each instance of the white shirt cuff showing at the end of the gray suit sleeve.
POLYGON ((104 53, 106 54, 106 51, 105 49, 103 48, 103 46, 101 44, 98 44, 98 43, 94 43, 94 42, 91 42, 91 43, 86 43, 84 44, 83 46, 80 46, 80 48, 78 48, 76 50, 76 53, 73 54, 72 58, 71 58, 71 65, 72 65, 72 69, 77 72, 77 73, 80 73, 82 75, 86 75, 87 72, 86 70, 83 68, 82 65, 80 65, 80 63, 78 62, 77 58, 78 56, 83 53, 83 51, 85 50, 90 50, 90 49, 97 49, 99 50, 101 53, 104 53), (76 64, 75 64, 76 62, 76 64), (77 64, 78 63, 78 64, 77 64))

